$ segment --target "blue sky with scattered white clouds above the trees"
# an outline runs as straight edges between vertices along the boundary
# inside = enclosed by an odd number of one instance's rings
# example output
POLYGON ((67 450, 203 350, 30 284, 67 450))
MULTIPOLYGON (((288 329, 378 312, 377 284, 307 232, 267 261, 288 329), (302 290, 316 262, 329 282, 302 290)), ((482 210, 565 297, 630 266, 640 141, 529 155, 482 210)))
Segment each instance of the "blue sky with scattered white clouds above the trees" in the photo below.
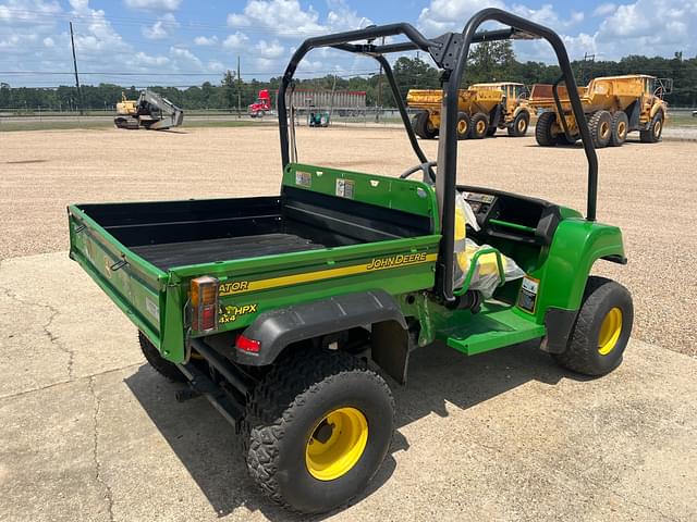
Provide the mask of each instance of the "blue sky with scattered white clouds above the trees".
MULTIPOLYGON (((436 36, 462 29, 486 7, 551 26, 572 59, 585 52, 598 59, 697 54, 697 0, 0 0, 0 82, 71 84, 71 20, 83 83, 187 86, 219 82, 224 70, 236 69, 237 57, 244 79, 280 75, 308 36, 391 22, 436 36)), ((540 41, 516 42, 515 51, 522 60, 553 61, 540 41)), ((372 70, 368 59, 315 51, 299 75, 372 70)))

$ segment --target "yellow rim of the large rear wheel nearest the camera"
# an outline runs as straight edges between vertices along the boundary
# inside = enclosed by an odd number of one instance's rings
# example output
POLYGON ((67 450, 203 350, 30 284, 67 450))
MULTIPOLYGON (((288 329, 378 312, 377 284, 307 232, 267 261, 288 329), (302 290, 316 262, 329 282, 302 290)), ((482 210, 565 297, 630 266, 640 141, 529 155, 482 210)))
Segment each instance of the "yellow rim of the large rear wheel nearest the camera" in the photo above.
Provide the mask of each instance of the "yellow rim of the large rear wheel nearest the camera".
POLYGON ((307 471, 318 481, 339 478, 360 460, 367 443, 366 417, 355 408, 339 408, 313 430, 305 449, 307 471))

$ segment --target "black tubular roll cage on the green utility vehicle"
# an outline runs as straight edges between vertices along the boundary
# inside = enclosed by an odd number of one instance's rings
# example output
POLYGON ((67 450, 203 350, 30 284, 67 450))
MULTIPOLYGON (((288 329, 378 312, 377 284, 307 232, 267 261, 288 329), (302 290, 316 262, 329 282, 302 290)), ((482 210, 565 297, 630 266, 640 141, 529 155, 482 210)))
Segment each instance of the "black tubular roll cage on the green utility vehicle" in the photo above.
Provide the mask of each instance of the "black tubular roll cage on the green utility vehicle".
MULTIPOLYGON (((289 119, 286 107, 286 92, 292 86, 293 75, 297 64, 310 50, 331 47, 346 52, 365 54, 374 58, 382 66, 390 89, 405 126, 406 134, 416 157, 420 163, 427 163, 428 159, 421 150, 416 139, 416 135, 409 124, 404 101, 400 97, 392 69, 384 58, 384 54, 393 52, 404 52, 420 50, 427 52, 436 65, 441 71, 441 85, 443 89, 443 101, 441 108, 440 135, 438 139, 438 172, 436 177, 436 196, 439 206, 439 220, 441 224, 442 238, 438 261, 436 265, 436 293, 445 302, 452 302, 453 296, 453 241, 454 241, 454 216, 455 216, 455 184, 457 169, 457 90, 461 85, 469 47, 472 44, 482 41, 505 40, 505 39, 535 39, 543 38, 553 48, 560 69, 561 76, 553 85, 554 100, 561 110, 558 87, 564 84, 568 91, 572 111, 578 125, 580 139, 583 141, 586 159, 588 160, 588 195, 586 220, 595 221, 596 201, 598 190, 598 158, 594 149, 588 124, 584 115, 574 73, 568 62, 568 55, 562 39, 552 29, 536 24, 528 20, 515 16, 499 9, 485 9, 476 13, 465 25, 462 33, 445 33, 437 38, 426 38, 414 26, 406 23, 371 26, 358 30, 337 33, 333 35, 319 36, 306 39, 291 58, 278 95, 279 132, 281 138, 281 161, 283 169, 289 164, 291 150, 289 146, 289 119), (506 26, 503 29, 480 30, 477 29, 485 22, 494 21, 506 26), (380 37, 398 36, 406 37, 407 41, 375 45, 374 41, 380 37), (358 41, 366 40, 365 44, 358 41)), ((292 88, 292 87, 291 87, 292 88)), ((566 122, 562 120, 564 133, 568 134, 566 122)), ((430 170, 430 166, 428 166, 430 170)), ((430 172, 432 175, 432 172, 430 172)))

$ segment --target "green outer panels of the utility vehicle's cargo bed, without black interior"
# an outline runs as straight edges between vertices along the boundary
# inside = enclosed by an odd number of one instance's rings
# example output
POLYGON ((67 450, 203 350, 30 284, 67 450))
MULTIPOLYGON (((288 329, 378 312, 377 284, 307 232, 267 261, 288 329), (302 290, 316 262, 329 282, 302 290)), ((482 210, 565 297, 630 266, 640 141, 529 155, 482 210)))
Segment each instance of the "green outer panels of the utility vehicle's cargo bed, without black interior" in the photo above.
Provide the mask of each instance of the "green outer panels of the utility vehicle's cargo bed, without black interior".
MULTIPOLYGON (((289 165, 283 184, 329 196, 343 192, 356 201, 403 210, 431 220, 437 229, 436 197, 419 182, 372 176, 311 165, 289 165), (303 172, 296 184, 296 169, 303 172)), ((337 196, 340 197, 340 196, 337 196)), ((439 234, 398 238, 362 245, 316 249, 234 261, 176 266, 163 272, 136 256, 91 220, 80 206, 69 208, 71 257, 126 313, 172 362, 185 360, 187 337, 201 334, 188 327, 191 279, 211 275, 225 284, 244 282, 248 289, 220 296, 220 321, 216 333, 249 325, 267 310, 311 302, 331 296, 369 289, 392 295, 431 288, 439 234), (395 259, 409 262, 379 265, 395 259), (110 266, 124 261, 119 270, 110 266), (413 261, 413 262, 412 262, 413 261), (261 285, 255 288, 255 285, 261 285), (266 286, 264 286, 266 285, 266 286), (232 312, 231 312, 232 310, 232 312)))

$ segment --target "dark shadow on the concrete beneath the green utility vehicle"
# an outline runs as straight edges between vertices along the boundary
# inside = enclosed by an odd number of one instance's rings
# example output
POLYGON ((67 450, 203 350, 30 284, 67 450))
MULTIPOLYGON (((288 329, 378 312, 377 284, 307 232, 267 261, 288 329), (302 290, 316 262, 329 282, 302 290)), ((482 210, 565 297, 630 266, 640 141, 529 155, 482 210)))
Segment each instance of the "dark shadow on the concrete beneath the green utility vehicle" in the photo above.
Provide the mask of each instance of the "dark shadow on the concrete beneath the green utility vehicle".
MULTIPOLYGON (((412 353, 406 386, 389 380, 396 402, 396 427, 390 453, 357 504, 379 489, 392 475, 396 462, 392 453, 408 450, 408 440, 399 432, 430 413, 448 417, 445 402, 467 409, 530 381, 557 384, 562 377, 583 378, 561 370, 552 359, 526 344, 466 356, 442 345, 412 353)), ((163 377, 143 365, 125 380, 160 433, 164 436, 219 517, 245 506, 260 510, 270 520, 308 520, 294 517, 268 500, 247 477, 235 448, 234 428, 203 397, 176 402, 181 386, 163 383, 163 377)), ((338 511, 345 509, 340 508, 338 511)), ((311 520, 322 520, 327 513, 311 520)))

